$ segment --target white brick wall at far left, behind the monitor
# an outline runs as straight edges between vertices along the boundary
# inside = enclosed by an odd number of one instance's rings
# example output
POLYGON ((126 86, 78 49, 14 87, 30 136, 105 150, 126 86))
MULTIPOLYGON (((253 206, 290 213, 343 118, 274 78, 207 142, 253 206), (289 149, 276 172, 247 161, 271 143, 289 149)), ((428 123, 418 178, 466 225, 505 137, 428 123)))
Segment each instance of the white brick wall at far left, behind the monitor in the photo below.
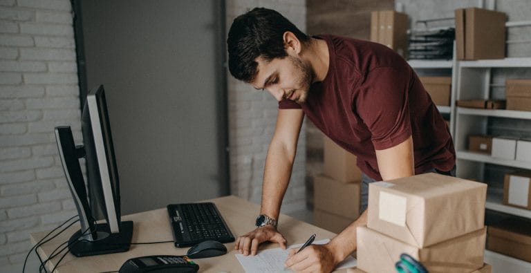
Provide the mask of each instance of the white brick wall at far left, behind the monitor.
POLYGON ((69 0, 0 0, 0 272, 22 269, 30 233, 77 214, 53 133, 80 139, 72 23, 69 0))

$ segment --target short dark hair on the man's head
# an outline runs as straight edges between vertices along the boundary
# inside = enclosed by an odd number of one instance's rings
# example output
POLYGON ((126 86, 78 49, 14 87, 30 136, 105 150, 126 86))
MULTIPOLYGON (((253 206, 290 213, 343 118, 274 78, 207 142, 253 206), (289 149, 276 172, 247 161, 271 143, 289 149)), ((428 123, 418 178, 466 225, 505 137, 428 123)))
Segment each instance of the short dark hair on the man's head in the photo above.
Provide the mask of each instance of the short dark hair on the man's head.
POLYGON ((271 61, 288 54, 283 41, 286 31, 302 43, 310 38, 275 10, 254 8, 232 22, 227 39, 229 70, 232 76, 252 82, 257 75, 257 57, 271 61))

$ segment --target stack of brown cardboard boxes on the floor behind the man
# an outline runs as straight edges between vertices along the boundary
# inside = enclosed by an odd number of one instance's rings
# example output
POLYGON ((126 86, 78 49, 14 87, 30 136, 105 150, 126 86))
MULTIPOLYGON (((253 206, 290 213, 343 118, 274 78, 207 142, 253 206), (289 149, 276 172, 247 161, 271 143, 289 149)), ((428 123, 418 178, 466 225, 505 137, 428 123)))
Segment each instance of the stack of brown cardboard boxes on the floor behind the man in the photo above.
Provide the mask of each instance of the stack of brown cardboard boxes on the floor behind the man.
POLYGON ((356 156, 324 137, 324 173, 314 176, 315 225, 339 233, 360 216, 360 181, 356 156))

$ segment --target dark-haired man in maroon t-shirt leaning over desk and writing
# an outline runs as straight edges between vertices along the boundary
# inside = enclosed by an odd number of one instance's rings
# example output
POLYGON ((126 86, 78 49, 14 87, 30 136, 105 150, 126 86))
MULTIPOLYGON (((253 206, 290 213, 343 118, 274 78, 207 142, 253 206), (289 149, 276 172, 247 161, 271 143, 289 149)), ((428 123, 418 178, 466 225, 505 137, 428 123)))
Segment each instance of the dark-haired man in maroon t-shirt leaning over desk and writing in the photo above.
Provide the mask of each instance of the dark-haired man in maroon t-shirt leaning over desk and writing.
MULTIPOLYGON (((286 248, 277 230, 304 115, 344 149, 368 182, 437 171, 449 174, 455 151, 448 128, 407 62, 389 48, 357 39, 308 37, 274 10, 254 8, 234 19, 227 39, 230 73, 278 101, 277 126, 263 175, 257 229, 235 249, 254 255, 260 243, 286 248)), ((366 211, 326 245, 290 252, 286 267, 330 272, 356 250, 366 211)))

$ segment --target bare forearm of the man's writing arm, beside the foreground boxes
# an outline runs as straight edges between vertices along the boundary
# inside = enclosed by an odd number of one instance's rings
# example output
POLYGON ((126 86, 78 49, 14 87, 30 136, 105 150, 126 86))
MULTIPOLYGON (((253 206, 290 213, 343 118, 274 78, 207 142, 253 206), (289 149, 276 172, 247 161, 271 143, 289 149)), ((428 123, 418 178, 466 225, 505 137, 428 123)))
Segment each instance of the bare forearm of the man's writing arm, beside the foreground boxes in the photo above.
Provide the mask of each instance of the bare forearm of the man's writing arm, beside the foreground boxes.
POLYGON ((330 250, 333 252, 335 262, 343 261, 346 256, 350 255, 357 249, 357 232, 356 228, 367 224, 367 210, 357 218, 351 225, 348 225, 340 234, 330 241, 330 250))

